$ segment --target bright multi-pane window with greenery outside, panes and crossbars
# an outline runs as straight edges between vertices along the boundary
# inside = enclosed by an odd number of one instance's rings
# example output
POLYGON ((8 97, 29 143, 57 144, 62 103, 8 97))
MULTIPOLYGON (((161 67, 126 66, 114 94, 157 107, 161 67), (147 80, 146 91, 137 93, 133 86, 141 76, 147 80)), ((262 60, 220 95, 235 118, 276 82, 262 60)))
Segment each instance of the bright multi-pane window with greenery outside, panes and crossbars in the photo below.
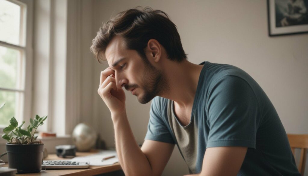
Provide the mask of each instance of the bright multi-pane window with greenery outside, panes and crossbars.
POLYGON ((26 12, 26 1, 0 0, 0 105, 5 103, 0 110, 0 128, 13 116, 19 122, 24 120, 24 109, 30 107, 25 101, 26 84, 31 84, 26 83, 26 66, 32 61, 26 41, 26 12))

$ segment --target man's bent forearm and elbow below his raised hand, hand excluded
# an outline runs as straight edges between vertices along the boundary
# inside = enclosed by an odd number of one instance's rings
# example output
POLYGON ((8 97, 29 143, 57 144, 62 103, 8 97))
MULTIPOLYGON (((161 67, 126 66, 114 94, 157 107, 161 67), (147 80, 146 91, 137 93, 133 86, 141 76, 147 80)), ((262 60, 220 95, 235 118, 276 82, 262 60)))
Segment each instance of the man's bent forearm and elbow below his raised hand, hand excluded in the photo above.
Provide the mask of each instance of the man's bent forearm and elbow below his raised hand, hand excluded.
POLYGON ((112 119, 116 150, 125 175, 160 176, 172 154, 174 144, 145 140, 140 149, 126 115, 112 117, 112 119))

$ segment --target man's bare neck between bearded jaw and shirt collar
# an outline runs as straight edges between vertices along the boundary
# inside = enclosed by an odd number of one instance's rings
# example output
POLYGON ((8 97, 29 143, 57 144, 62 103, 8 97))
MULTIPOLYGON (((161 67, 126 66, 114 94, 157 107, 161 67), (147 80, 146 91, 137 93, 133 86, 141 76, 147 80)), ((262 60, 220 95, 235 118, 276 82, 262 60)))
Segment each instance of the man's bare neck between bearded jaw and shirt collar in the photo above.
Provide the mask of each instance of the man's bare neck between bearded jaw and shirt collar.
POLYGON ((169 91, 160 96, 173 100, 180 107, 191 107, 203 65, 187 60, 177 63, 166 59, 165 62, 162 69, 169 82, 169 91))

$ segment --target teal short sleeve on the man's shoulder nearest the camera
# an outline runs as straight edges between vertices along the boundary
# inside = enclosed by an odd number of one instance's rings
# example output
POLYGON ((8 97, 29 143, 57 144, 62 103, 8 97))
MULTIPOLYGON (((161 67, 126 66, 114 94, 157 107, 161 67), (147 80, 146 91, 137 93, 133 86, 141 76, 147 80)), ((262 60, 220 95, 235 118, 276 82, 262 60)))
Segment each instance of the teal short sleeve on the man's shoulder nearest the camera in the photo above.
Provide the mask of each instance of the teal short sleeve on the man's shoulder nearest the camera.
POLYGON ((209 92, 206 110, 209 117, 208 147, 256 147, 260 121, 257 97, 242 78, 224 76, 209 92))

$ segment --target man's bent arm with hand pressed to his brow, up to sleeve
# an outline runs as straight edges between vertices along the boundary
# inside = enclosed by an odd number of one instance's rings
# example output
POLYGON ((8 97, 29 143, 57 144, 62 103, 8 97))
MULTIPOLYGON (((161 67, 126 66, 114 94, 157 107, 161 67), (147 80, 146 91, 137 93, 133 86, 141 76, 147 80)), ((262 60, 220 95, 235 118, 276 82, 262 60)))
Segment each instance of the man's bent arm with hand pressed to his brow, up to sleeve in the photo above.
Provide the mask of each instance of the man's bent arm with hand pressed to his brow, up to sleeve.
POLYGON ((121 167, 126 176, 158 176, 164 170, 174 145, 146 140, 140 149, 127 119, 124 90, 117 87, 114 75, 115 71, 109 67, 102 71, 97 92, 111 112, 121 167))

